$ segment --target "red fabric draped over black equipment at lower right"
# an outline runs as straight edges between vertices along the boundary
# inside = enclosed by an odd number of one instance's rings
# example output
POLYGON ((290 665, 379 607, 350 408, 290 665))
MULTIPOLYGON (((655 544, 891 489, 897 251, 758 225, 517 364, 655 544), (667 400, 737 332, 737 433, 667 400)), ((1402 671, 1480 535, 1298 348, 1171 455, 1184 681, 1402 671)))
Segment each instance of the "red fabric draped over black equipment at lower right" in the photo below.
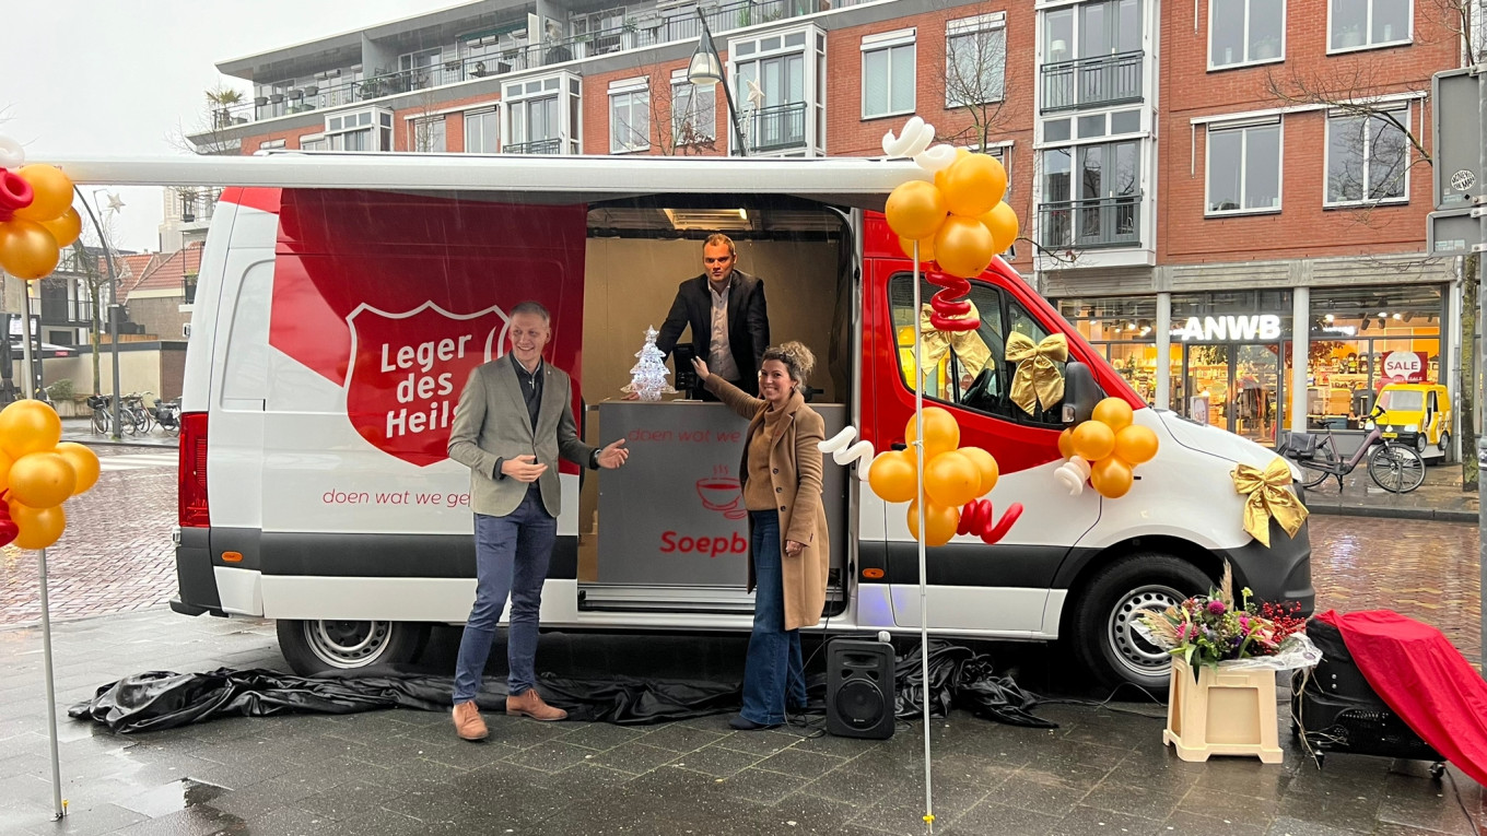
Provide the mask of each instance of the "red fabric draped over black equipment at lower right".
POLYGON ((1414 733, 1487 785, 1487 681, 1441 631, 1390 610, 1316 617, 1343 634, 1364 678, 1414 733))

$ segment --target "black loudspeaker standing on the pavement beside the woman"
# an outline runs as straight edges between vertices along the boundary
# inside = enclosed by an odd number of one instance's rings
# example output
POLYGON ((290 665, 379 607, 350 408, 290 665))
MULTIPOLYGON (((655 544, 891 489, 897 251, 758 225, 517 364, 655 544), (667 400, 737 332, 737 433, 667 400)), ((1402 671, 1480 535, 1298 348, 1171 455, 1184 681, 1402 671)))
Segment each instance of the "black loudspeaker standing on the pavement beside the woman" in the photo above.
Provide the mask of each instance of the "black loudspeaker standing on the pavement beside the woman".
POLYGON ((894 649, 883 641, 827 646, 827 733, 894 736, 894 649))

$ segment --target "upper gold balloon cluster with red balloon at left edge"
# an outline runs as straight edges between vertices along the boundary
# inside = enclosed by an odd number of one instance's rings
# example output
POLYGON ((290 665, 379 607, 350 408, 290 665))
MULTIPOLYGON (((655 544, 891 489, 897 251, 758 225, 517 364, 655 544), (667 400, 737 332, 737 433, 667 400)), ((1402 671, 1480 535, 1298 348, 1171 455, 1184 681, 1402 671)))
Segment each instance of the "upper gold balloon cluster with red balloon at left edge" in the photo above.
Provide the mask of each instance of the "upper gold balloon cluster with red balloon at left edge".
POLYGON ((19 143, 0 137, 0 268, 25 281, 49 275, 82 229, 73 181, 55 165, 25 165, 19 143))

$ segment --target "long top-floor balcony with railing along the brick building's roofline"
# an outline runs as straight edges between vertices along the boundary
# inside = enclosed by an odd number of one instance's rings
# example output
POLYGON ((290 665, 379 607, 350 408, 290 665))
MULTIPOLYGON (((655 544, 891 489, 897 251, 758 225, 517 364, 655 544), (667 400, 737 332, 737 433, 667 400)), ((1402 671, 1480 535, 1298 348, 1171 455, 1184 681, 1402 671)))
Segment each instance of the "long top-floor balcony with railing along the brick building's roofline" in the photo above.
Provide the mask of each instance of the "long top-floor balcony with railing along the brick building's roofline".
MULTIPOLYGON (((833 7, 865 0, 836 0, 833 7)), ((708 28, 721 33, 757 24, 799 18, 824 7, 824 0, 730 0, 703 6, 708 28)), ((407 94, 445 85, 520 73, 537 67, 581 61, 626 49, 641 49, 663 43, 693 40, 702 25, 693 6, 629 7, 623 25, 586 31, 561 40, 532 46, 500 46, 451 43, 443 46, 445 60, 410 70, 372 70, 358 80, 312 83, 283 92, 259 95, 241 104, 220 107, 213 115, 213 128, 226 129, 253 120, 275 119, 345 104, 355 104, 385 95, 407 94)))

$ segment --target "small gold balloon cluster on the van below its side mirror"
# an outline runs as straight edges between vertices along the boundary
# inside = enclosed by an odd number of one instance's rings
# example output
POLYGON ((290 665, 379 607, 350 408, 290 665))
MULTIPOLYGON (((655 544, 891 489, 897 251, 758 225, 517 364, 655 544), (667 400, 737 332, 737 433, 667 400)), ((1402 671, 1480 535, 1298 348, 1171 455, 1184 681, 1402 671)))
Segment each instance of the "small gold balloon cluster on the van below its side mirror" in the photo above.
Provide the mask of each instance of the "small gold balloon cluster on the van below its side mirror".
POLYGON ((1066 461, 1054 478, 1069 488, 1069 495, 1084 492, 1086 480, 1111 500, 1130 491, 1135 467, 1157 455, 1157 433, 1133 424, 1133 415, 1123 399, 1106 397, 1094 405, 1093 418, 1059 436, 1059 452, 1066 461))

